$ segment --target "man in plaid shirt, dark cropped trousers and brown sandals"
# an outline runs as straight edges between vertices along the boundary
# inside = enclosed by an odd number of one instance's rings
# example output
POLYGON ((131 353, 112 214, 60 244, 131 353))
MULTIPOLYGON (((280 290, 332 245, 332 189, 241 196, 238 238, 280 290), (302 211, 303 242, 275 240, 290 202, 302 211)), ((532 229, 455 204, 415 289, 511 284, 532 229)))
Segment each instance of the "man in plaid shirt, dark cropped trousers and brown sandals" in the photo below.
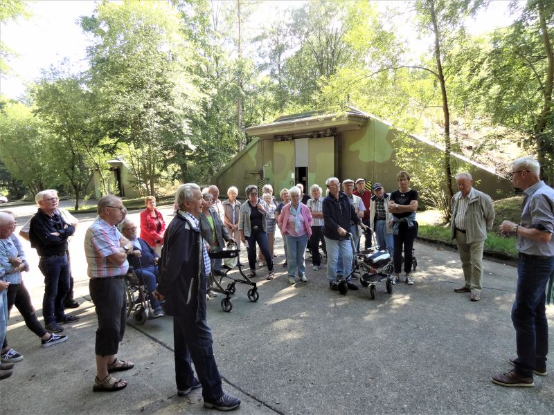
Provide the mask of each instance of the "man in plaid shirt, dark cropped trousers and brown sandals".
POLYGON ((92 390, 111 392, 127 386, 125 380, 111 373, 134 367, 133 362, 118 360, 116 356, 127 322, 124 278, 129 270, 127 255, 134 253, 134 245, 116 228, 127 214, 121 199, 113 194, 103 196, 96 210, 98 218, 84 235, 89 291, 98 316, 94 347, 96 378, 92 390))

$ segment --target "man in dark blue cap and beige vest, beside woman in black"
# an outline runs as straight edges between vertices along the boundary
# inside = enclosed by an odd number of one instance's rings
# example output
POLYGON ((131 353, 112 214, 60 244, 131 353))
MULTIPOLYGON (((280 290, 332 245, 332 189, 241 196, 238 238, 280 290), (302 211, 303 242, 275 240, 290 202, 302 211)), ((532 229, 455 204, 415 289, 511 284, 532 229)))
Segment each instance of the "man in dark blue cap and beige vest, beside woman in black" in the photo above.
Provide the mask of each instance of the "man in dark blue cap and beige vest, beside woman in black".
POLYGON ((369 212, 369 226, 375 230, 379 250, 387 250, 391 257, 394 255, 393 214, 386 208, 391 200, 391 195, 385 193, 381 183, 373 185, 373 196, 371 196, 371 207, 369 212))

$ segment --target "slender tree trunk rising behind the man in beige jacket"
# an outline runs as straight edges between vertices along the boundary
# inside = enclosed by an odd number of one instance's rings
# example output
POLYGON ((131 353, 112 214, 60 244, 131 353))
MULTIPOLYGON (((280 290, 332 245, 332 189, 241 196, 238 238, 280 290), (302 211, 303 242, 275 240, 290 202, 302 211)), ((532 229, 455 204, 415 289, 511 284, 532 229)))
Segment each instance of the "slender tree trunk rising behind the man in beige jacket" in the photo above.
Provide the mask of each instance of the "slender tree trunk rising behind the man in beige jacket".
POLYGON ((450 205, 452 201, 452 196, 454 196, 454 190, 452 188, 452 168, 450 166, 450 151, 452 149, 450 143, 450 111, 448 109, 448 95, 446 92, 446 82, 445 75, 443 73, 443 63, 440 59, 440 43, 438 37, 438 24, 435 11, 434 1, 428 2, 429 7, 429 16, 431 17, 431 23, 433 24, 433 32, 435 34, 435 59, 437 62, 437 73, 438 73, 438 82, 440 83, 440 93, 443 96, 443 113, 445 116, 445 154, 444 154, 444 163, 445 163, 445 185, 447 188, 447 197, 445 198, 445 207, 447 212, 447 217, 445 219, 450 220, 452 215, 452 206, 450 205))

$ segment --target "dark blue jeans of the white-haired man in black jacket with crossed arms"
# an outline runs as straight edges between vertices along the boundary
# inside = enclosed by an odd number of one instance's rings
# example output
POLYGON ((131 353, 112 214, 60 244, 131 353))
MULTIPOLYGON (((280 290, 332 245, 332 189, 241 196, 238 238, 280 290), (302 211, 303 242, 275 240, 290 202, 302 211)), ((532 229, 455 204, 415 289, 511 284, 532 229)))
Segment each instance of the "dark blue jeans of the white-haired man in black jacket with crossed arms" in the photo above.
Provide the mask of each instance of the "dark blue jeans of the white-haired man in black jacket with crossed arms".
POLYGON ((67 256, 40 257, 39 270, 44 275, 42 315, 48 325, 65 318, 64 299, 69 293, 69 261, 67 256))

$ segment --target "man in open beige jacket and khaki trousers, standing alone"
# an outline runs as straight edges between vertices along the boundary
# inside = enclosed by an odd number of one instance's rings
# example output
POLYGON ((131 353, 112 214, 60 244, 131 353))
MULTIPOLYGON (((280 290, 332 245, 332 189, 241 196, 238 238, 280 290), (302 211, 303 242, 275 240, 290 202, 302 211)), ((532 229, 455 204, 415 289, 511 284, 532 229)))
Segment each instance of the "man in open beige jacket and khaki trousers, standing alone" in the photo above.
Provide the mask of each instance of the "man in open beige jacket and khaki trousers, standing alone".
POLYGON ((487 231, 492 229, 494 206, 488 194, 472 187, 471 174, 456 175, 456 183, 460 192, 452 197, 450 234, 452 239, 456 239, 465 284, 454 288, 454 291, 471 293, 471 301, 479 301, 483 281, 483 248, 487 231))

